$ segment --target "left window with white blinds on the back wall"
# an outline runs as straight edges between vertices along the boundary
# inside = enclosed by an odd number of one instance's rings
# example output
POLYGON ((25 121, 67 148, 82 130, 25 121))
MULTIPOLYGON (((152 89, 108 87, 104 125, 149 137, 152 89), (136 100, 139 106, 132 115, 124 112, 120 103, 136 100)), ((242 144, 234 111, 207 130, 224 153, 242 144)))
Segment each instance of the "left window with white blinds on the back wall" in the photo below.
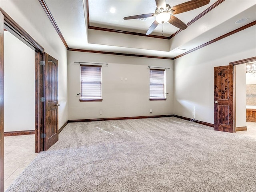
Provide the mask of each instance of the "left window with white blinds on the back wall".
POLYGON ((101 66, 80 65, 80 101, 102 101, 101 66))

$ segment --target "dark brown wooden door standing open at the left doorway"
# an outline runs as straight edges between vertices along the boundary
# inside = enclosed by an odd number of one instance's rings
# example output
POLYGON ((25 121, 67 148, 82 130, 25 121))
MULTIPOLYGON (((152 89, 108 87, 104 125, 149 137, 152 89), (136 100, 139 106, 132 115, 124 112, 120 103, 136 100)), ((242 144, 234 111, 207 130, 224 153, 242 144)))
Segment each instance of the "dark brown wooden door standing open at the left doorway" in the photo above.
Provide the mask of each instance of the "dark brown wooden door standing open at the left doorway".
POLYGON ((58 60, 44 53, 44 150, 58 141, 58 60))

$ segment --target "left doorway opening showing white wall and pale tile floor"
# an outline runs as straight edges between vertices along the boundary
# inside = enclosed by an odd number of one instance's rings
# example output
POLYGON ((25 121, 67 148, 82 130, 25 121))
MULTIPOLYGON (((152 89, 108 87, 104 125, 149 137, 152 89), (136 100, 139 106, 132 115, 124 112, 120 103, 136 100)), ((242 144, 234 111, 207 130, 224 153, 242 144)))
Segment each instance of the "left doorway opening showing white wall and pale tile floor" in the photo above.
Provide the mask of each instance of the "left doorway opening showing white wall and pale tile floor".
POLYGON ((36 157, 34 60, 34 50, 5 30, 4 190, 36 157))

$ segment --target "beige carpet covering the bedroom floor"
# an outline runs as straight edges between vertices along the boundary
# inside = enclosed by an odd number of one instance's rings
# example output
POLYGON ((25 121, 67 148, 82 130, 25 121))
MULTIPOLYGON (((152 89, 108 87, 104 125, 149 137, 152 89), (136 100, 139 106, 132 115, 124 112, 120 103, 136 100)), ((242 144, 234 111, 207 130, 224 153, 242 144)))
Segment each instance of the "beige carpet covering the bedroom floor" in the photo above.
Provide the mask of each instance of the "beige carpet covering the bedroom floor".
POLYGON ((174 117, 69 123, 7 192, 255 192, 256 140, 174 117))

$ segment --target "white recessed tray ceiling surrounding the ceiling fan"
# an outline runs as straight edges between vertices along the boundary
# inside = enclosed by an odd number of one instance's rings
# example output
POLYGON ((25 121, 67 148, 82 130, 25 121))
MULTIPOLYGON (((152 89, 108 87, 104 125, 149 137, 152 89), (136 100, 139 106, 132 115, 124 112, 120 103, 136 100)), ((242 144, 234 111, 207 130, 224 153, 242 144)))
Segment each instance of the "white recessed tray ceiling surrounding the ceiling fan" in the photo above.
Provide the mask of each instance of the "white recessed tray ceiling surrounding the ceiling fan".
MULTIPOLYGON (((175 6, 186 1, 166 0, 166 3, 175 6)), ((210 0, 206 6, 175 16, 188 23, 216 1, 210 0)), ((256 0, 225 0, 169 40, 88 29, 86 0, 45 2, 69 48, 171 58, 256 20, 256 0), (248 20, 235 24, 242 18, 248 20), (178 48, 184 51, 176 52, 178 48)), ((155 0, 88 0, 88 7, 90 26, 145 34, 154 22, 154 17, 147 18, 146 21, 123 18, 154 13, 156 3, 155 0), (115 8, 116 12, 111 13, 110 8, 115 8)), ((164 36, 167 37, 178 30, 169 23, 165 23, 163 27, 164 36)), ((162 24, 152 34, 162 36, 162 24)))

